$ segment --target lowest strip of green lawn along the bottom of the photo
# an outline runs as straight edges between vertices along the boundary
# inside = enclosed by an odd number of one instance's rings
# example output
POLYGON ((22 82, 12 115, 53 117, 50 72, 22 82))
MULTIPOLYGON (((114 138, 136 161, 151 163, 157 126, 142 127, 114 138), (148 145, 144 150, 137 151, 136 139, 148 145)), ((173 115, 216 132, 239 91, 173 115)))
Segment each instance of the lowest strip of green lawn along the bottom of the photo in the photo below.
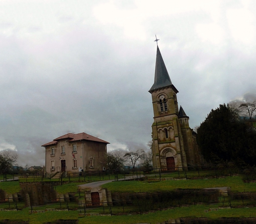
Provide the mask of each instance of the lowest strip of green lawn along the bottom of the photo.
POLYGON ((256 208, 240 208, 240 209, 219 209, 217 211, 209 211, 209 206, 192 205, 189 207, 168 209, 164 211, 156 211, 143 215, 121 215, 121 216, 79 216, 78 211, 46 211, 43 213, 29 214, 29 208, 22 211, 0 211, 1 220, 28 220, 33 224, 42 224, 45 222, 53 222, 58 219, 79 219, 79 224, 113 224, 113 223, 148 223, 151 224, 164 222, 171 218, 182 217, 254 217, 256 208))

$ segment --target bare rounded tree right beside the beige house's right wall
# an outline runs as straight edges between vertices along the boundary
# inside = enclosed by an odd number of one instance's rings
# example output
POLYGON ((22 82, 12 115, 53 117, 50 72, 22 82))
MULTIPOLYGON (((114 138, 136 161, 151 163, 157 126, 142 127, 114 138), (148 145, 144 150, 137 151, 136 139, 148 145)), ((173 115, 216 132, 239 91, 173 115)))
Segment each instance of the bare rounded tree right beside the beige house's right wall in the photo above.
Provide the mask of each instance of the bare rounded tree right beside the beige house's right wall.
POLYGON ((113 150, 107 152, 107 165, 110 170, 120 169, 124 163, 124 152, 113 150))

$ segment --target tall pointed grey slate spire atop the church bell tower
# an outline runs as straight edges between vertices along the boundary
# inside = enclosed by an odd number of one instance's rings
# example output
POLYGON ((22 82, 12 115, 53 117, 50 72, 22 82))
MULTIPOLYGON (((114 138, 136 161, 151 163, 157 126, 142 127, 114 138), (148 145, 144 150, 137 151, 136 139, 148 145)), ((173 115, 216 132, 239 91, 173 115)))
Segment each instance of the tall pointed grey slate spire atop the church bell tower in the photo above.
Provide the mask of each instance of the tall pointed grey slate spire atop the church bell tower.
MULTIPOLYGON (((168 86, 173 86, 173 83, 171 83, 170 76, 167 72, 166 66, 164 64, 162 55, 161 55, 160 50, 159 50, 159 47, 157 46, 155 81, 154 81, 154 84, 150 88, 149 91, 156 90, 156 89, 163 88, 163 87, 168 87, 168 86)), ((174 87, 174 89, 178 93, 178 90, 175 87, 174 87)))

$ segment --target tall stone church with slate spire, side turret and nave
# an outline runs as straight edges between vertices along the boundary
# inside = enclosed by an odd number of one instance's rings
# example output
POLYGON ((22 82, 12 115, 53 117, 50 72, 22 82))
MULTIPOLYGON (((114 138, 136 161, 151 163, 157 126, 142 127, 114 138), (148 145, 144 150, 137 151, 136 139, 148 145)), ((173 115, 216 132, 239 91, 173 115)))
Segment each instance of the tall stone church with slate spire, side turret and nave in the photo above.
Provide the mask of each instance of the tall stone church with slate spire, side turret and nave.
POLYGON ((149 93, 152 96, 154 122, 152 124, 153 167, 181 170, 201 164, 196 133, 189 127, 189 117, 178 109, 178 90, 171 82, 157 45, 155 80, 149 93))

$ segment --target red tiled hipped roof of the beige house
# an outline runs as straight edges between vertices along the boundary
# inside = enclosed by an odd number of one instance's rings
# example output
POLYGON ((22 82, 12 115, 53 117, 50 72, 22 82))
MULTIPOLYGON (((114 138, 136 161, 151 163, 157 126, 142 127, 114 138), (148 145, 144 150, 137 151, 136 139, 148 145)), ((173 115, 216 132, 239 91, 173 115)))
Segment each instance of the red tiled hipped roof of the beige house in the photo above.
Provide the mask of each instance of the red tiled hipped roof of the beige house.
POLYGON ((48 145, 54 145, 54 144, 57 144, 58 143, 58 140, 61 140, 61 139, 65 139, 67 138, 68 142, 74 142, 74 141, 80 141, 80 140, 86 140, 86 141, 94 141, 94 142, 102 142, 102 143, 106 143, 106 144, 109 144, 109 142, 106 142, 100 138, 96 138, 92 135, 88 135, 86 133, 79 133, 79 134, 73 134, 73 133, 68 133, 66 135, 62 135, 58 138, 55 138, 52 142, 49 142, 49 143, 46 143, 44 145, 42 145, 43 147, 45 146, 48 146, 48 145))

